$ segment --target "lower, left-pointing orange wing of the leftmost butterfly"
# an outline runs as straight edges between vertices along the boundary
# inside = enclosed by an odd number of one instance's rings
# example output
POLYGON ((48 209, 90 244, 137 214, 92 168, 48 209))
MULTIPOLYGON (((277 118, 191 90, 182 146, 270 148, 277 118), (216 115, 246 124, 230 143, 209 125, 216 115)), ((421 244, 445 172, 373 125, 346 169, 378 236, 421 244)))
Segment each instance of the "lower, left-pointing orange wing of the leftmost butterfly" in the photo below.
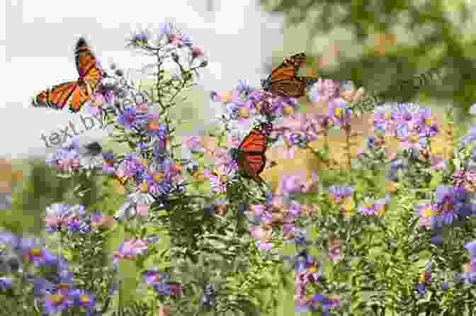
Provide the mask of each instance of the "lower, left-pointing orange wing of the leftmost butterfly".
POLYGON ((77 81, 65 82, 41 91, 33 100, 33 106, 61 110, 67 105, 74 92, 79 89, 77 81))

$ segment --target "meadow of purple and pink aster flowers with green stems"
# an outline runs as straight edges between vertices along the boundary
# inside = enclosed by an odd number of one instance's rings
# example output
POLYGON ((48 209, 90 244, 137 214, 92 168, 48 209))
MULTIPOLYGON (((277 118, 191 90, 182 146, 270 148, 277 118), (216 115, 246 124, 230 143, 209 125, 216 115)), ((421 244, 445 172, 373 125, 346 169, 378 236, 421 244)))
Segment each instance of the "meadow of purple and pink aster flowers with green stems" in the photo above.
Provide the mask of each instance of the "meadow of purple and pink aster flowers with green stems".
POLYGON ((205 134, 178 136, 199 44, 164 23, 128 40, 152 83, 102 67, 84 111, 128 150, 71 138, 42 167, 51 196, 34 174, 12 193, 1 315, 475 315, 476 128, 348 79, 296 99, 237 78, 210 87, 205 134), (261 183, 232 153, 263 124, 261 183))

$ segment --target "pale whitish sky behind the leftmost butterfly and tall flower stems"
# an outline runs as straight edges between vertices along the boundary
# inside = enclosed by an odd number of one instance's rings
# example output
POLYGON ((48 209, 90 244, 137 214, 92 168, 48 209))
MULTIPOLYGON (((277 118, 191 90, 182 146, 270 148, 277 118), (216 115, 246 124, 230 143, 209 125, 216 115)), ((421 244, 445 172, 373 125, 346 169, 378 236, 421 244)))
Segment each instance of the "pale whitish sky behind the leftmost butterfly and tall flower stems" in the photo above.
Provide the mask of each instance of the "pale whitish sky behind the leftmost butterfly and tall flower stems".
MULTIPOLYGON (((13 159, 51 151, 42 135, 48 139, 52 132, 60 133, 70 120, 82 124, 79 114, 30 106, 38 92, 77 79, 74 45, 80 36, 86 37, 103 67, 114 61, 124 69, 138 69, 147 60, 125 47, 130 34, 154 30, 161 22, 175 23, 205 48, 209 66, 200 72, 196 89, 201 93, 192 104, 213 116, 221 109, 220 103, 209 100, 210 91, 233 89, 239 79, 258 86, 266 77, 264 66, 271 62, 273 47, 283 44, 283 18, 264 13, 254 0, 7 0, 5 5, 6 23, 0 26, 0 156, 13 159), (215 11, 208 11, 210 4, 215 11)), ((197 125, 211 117, 203 115, 197 125)), ((89 141, 107 135, 95 127, 79 137, 89 141)))

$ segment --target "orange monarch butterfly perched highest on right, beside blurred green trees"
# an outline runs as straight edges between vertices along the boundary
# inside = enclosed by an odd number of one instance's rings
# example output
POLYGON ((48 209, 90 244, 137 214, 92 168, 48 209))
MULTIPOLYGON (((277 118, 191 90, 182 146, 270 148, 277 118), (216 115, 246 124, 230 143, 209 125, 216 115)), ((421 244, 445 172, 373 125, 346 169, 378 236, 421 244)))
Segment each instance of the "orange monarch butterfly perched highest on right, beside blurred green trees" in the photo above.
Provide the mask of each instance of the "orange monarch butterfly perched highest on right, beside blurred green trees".
POLYGON ((300 98, 305 95, 307 86, 318 79, 299 77, 297 70, 306 62, 304 52, 285 58, 278 68, 273 69, 268 78, 261 80, 264 91, 276 92, 282 96, 300 98))

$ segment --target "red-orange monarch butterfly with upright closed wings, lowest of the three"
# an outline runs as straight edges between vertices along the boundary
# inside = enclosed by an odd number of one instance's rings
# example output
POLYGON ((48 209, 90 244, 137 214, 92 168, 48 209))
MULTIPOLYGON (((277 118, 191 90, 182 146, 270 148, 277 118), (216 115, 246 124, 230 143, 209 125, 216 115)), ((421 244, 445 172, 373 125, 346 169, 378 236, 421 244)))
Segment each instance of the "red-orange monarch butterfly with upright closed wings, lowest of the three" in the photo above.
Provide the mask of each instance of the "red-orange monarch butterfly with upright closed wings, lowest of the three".
POLYGON ((242 143, 232 154, 238 168, 244 171, 245 176, 261 184, 266 184, 259 174, 266 166, 266 155, 264 153, 268 145, 268 136, 272 130, 273 125, 271 123, 261 123, 244 137, 242 143))

